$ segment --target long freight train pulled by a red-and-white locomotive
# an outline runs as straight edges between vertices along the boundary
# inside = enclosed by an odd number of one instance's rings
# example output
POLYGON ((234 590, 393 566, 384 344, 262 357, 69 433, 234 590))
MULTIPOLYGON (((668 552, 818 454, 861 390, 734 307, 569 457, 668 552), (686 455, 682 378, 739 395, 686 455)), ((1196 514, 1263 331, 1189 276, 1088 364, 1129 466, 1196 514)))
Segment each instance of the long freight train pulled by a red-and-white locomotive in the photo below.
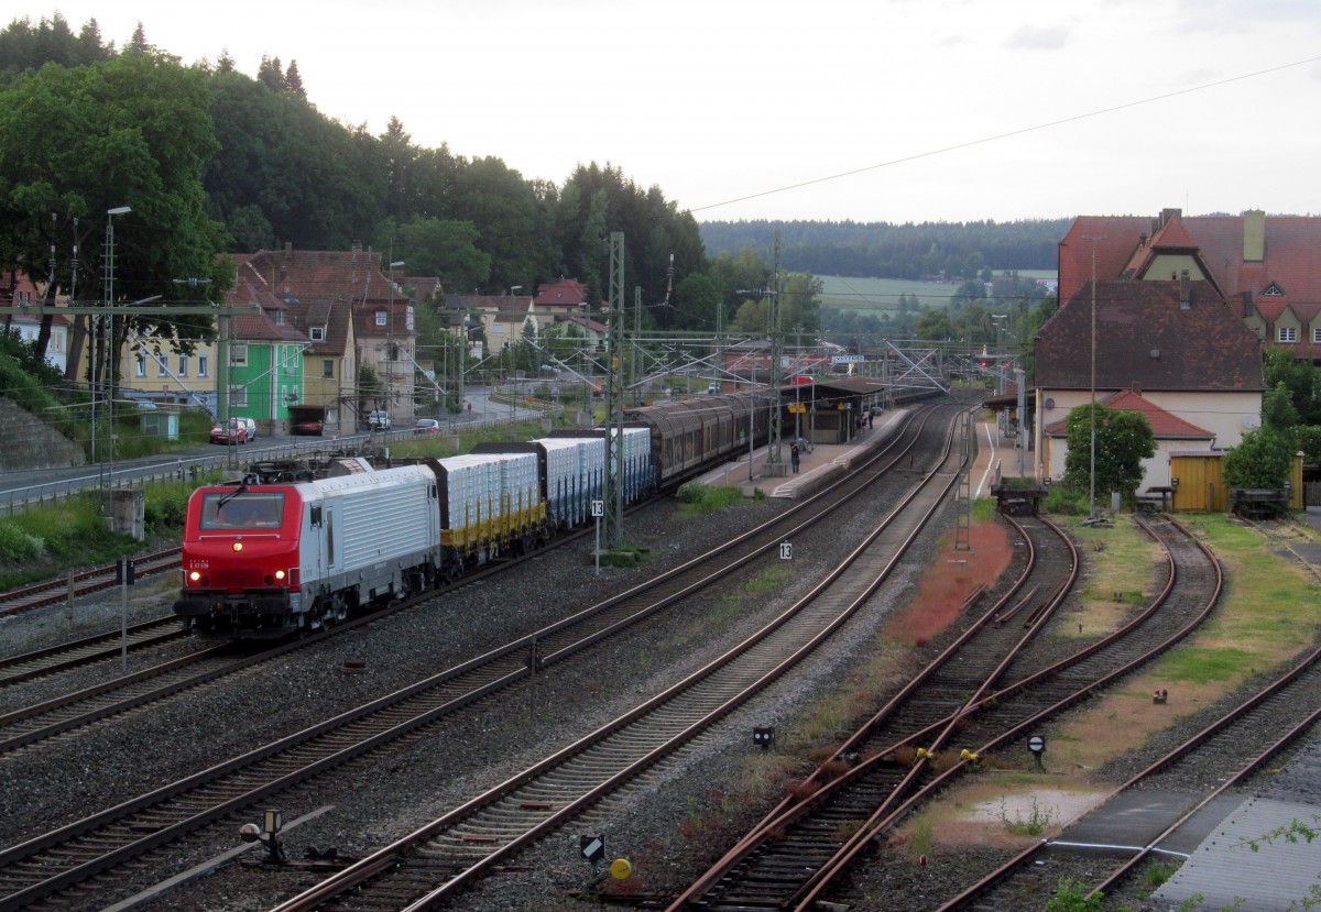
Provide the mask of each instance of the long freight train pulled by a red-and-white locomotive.
MULTIPOLYGON (((625 500, 744 451, 749 430, 764 441, 764 403, 732 395, 629 410, 625 500)), ((444 459, 256 463, 189 498, 174 612, 203 634, 280 637, 538 548, 587 523, 604 496, 608 433, 483 443, 444 459)))

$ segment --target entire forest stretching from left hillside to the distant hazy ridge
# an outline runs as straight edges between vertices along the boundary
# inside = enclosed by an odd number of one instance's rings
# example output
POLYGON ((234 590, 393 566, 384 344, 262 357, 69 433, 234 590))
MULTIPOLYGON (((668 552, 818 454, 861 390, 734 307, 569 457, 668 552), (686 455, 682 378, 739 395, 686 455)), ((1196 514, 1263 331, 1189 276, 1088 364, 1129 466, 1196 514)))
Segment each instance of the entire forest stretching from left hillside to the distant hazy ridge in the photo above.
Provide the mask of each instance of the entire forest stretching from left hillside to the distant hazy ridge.
MULTIPOLYGON (((98 297, 114 211, 118 301, 219 301, 232 263, 218 253, 355 242, 403 260, 407 275, 439 276, 449 293, 527 294, 565 276, 604 298, 606 240, 622 232, 626 306, 642 301, 646 329, 762 334, 766 296, 740 290, 770 288, 778 231, 782 325, 834 333, 847 314, 823 313, 816 275, 938 276, 963 282, 956 310, 988 294, 992 269, 1054 268, 1065 230, 699 224, 620 165, 530 179, 494 154, 421 147, 398 119, 373 135, 328 117, 313 90, 292 59, 263 59, 255 75, 223 50, 184 65, 143 25, 116 48, 95 20, 78 30, 58 13, 12 21, 0 29, 0 273, 42 280, 50 300, 98 297)), ((875 331, 911 337, 927 309, 881 314, 875 331)), ((136 329, 206 338, 209 321, 137 318, 136 329)), ((989 331, 984 318, 971 322, 989 331)))

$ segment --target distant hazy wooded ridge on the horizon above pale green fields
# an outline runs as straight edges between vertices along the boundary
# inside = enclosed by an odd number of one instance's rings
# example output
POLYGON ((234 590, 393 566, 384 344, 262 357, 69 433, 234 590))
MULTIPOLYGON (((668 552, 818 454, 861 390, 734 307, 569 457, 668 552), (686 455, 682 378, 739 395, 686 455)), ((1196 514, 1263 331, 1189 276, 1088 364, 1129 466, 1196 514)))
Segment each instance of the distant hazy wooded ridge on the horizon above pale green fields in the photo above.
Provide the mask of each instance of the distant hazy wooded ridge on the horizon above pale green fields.
POLYGON ((708 253, 757 251, 770 259, 781 234, 781 264, 819 276, 974 278, 996 272, 1055 269, 1067 219, 1022 222, 703 222, 708 253))

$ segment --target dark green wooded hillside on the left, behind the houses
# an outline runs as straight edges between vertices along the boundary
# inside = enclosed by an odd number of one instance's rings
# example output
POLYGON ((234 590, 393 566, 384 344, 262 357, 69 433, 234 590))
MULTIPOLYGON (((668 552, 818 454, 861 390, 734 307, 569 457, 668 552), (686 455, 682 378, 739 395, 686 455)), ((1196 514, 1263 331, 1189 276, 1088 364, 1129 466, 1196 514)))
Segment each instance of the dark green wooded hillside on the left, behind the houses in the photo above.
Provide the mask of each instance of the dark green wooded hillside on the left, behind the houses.
MULTIPOLYGON (((58 13, 11 22, 0 32, 0 271, 44 280, 54 247, 52 294, 98 296, 107 210, 128 206, 115 216, 122 300, 174 300, 174 280, 194 277, 214 278, 194 288, 218 300, 229 281, 213 267, 218 251, 354 242, 404 260, 407 275, 440 276, 448 292, 527 294, 563 275, 605 297, 616 231, 629 306, 634 288, 664 301, 671 255, 676 285, 708 280, 687 293, 720 286, 696 220, 618 166, 526 178, 494 156, 421 147, 396 119, 379 135, 339 123, 312 88, 296 61, 266 58, 255 78, 226 51, 185 66, 141 25, 116 49, 95 20, 78 32, 58 13)), ((647 322, 712 322, 713 298, 687 304, 704 318, 651 308, 647 322)))

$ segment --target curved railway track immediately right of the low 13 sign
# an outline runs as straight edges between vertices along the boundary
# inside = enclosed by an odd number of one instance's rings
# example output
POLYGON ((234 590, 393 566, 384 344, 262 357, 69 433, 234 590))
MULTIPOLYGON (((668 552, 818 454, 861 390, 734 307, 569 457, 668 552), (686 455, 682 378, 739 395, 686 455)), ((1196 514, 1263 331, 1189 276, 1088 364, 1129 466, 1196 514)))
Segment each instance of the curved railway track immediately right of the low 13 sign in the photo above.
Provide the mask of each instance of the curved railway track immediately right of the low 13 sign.
POLYGON ((824 643, 876 593, 958 480, 938 466, 872 536, 770 626, 664 693, 277 912, 437 908, 523 847, 690 744, 824 643))

